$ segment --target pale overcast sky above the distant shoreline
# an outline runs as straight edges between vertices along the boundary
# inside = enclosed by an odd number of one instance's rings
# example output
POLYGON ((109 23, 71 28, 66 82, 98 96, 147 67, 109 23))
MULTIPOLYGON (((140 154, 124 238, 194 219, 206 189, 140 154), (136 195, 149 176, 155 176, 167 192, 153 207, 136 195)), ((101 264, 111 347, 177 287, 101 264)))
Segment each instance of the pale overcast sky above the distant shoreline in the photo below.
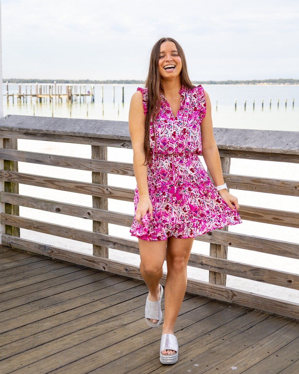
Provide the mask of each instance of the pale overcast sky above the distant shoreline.
POLYGON ((1 0, 3 78, 145 79, 160 37, 191 80, 299 79, 299 1, 1 0))

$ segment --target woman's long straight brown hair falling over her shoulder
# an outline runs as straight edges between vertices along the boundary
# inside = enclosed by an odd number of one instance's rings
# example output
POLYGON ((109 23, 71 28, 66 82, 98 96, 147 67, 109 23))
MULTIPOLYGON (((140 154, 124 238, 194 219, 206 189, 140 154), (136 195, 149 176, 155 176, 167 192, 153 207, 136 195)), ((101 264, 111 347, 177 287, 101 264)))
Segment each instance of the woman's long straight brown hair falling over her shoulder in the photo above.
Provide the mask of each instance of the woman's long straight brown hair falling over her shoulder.
MULTIPOLYGON (((149 143, 149 126, 154 123, 159 111, 160 111, 160 92, 164 92, 163 86, 161 85, 161 77, 159 73, 159 56, 160 56, 160 46, 163 42, 173 42, 176 45, 179 56, 182 60, 182 70, 180 73, 181 85, 191 89, 195 86, 192 84, 187 70, 187 62, 185 58, 185 53, 179 43, 172 38, 161 38, 152 47, 151 56, 149 58, 149 68, 148 76, 145 80, 145 87, 148 91, 148 102, 147 102, 147 115, 145 117, 145 136, 144 136, 144 151, 145 151, 145 161, 151 160, 150 154, 150 143, 149 143)), ((153 126, 154 129, 154 126, 153 126)), ((154 129, 155 137, 155 129, 154 129)), ((145 165, 145 163, 143 164, 145 165)))

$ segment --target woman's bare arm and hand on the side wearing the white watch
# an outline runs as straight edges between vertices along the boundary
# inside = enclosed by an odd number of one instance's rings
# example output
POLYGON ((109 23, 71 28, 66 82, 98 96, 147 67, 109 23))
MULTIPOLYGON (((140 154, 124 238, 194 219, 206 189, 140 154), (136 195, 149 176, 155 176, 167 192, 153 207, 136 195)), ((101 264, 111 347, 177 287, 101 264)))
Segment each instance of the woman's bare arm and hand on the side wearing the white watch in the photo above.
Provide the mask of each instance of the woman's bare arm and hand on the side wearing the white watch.
MULTIPOLYGON (((224 184, 221 161, 218 147, 213 134, 212 124, 212 107, 208 93, 204 90, 206 97, 206 115, 200 124, 201 132, 201 146, 204 162, 213 178, 215 186, 224 184)), ((237 197, 230 194, 225 188, 218 191, 222 199, 228 204, 231 209, 239 209, 237 197)))

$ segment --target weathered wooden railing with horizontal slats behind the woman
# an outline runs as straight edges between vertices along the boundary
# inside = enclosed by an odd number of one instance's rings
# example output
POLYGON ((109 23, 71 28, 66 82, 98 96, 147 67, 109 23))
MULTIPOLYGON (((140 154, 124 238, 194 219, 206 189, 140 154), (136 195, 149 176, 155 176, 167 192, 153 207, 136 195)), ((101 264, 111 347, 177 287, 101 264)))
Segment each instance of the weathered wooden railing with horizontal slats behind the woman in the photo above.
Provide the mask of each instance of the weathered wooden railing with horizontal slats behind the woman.
MULTIPOLYGON (((221 156, 224 181, 231 188, 299 195, 298 181, 229 174, 231 158, 298 163, 298 132, 215 128, 214 136, 221 156)), ((107 147, 132 148, 128 123, 7 115, 1 119, 0 137, 0 159, 4 160, 3 170, 0 170, 0 178, 4 181, 0 202, 5 203, 5 212, 2 209, 0 215, 1 224, 5 225, 2 245, 142 280, 138 267, 108 258, 108 248, 139 254, 137 240, 108 233, 108 223, 125 226, 129 230, 133 221, 133 214, 108 211, 107 201, 108 198, 133 201, 134 190, 107 185, 107 173, 134 177, 132 163, 107 160, 107 147), (21 151, 17 149, 17 139, 89 144, 92 159, 21 151), (18 172, 18 161, 91 171, 92 183, 21 173, 18 172), (93 207, 23 196, 18 193, 19 183, 89 194, 92 195, 93 207), (93 231, 20 217, 19 206, 92 220, 93 231), (20 238, 19 228, 92 243, 93 255, 20 238)), ((299 227, 297 212, 240 205, 239 213, 242 220, 299 227)), ((226 275, 229 274, 298 290, 299 274, 227 259, 228 246, 231 246, 298 260, 298 243, 252 236, 250 233, 238 234, 227 229, 228 226, 195 238, 210 243, 210 255, 191 253, 188 266, 209 270, 209 282, 188 278, 187 292, 299 319, 298 303, 226 286, 226 275)), ((166 273, 161 284, 165 284, 165 279, 166 273)))

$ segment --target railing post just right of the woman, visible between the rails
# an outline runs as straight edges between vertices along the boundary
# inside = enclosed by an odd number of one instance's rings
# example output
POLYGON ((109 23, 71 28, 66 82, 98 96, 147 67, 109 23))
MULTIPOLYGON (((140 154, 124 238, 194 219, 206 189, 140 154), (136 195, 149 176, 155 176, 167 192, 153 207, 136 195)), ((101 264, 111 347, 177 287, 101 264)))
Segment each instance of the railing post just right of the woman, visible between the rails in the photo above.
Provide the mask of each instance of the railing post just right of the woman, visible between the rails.
MULTIPOLYGON (((231 166, 231 158, 220 157, 220 160, 221 160, 222 172, 229 173, 229 169, 231 166)), ((219 229, 219 230, 228 231, 228 226, 224 226, 222 227, 222 229, 219 229)), ((215 243, 210 244, 210 256, 218 257, 218 258, 225 258, 227 260, 227 252, 228 252, 227 245, 220 245, 220 244, 215 244, 215 243)), ((226 285, 226 274, 209 271, 209 282, 225 286, 226 285)))

